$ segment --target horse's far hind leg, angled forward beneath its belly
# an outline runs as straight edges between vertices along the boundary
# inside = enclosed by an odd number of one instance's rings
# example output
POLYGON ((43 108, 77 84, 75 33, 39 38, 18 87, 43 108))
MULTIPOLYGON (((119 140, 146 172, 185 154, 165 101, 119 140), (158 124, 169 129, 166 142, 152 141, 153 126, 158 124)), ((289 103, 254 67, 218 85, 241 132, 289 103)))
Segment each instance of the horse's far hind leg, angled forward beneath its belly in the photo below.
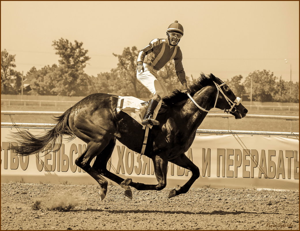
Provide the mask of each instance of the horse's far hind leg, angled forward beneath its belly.
POLYGON ((93 169, 96 169, 101 175, 119 184, 122 188, 125 189, 125 195, 132 199, 132 191, 128 186, 127 181, 107 170, 107 162, 113 153, 115 145, 116 138, 110 140, 110 143, 96 157, 95 163, 93 164, 93 169))

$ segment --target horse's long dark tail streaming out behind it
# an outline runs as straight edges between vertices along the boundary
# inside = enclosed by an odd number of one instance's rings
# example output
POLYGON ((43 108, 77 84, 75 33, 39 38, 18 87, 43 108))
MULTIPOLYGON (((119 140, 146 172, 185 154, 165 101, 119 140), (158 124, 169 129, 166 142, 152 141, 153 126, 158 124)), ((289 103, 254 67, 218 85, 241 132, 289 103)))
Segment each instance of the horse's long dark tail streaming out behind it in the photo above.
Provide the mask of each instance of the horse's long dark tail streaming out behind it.
POLYGON ((61 116, 55 116, 54 120, 58 123, 53 129, 46 132, 46 134, 41 137, 34 136, 26 130, 14 133, 12 135, 12 138, 18 145, 14 146, 10 144, 10 149, 14 150, 15 153, 21 156, 28 156, 38 153, 44 150, 45 147, 47 147, 47 150, 50 149, 50 151, 59 150, 61 147, 63 135, 69 136, 69 138, 67 138, 67 140, 69 141, 75 138, 74 133, 70 130, 70 127, 68 125, 68 118, 71 109, 72 108, 69 108, 61 116), (58 147, 55 146, 57 139, 59 144, 58 147))

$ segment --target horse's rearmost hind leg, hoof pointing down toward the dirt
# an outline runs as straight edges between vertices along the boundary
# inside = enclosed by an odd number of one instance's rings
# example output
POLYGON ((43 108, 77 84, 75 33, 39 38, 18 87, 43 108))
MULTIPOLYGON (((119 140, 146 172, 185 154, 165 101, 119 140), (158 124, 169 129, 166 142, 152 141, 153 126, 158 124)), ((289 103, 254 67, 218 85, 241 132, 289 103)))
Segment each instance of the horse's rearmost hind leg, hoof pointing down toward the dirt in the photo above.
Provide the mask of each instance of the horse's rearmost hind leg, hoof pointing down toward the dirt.
POLYGON ((107 180, 103 178, 99 172, 90 166, 91 160, 97 156, 101 150, 107 146, 107 142, 98 144, 94 141, 88 142, 85 151, 75 160, 75 164, 91 175, 100 185, 99 195, 101 200, 104 199, 107 192, 107 180))

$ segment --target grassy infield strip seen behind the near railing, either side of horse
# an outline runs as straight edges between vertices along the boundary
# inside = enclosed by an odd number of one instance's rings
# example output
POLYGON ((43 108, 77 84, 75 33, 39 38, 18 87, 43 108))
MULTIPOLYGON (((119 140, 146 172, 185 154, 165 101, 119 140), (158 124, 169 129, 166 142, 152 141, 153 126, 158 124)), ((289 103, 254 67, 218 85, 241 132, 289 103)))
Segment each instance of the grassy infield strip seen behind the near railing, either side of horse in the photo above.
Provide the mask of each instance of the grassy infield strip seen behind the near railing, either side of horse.
MULTIPOLYGON (((58 104, 56 107, 40 107, 39 105, 26 105, 24 106, 8 106, 1 105, 1 111, 65 111, 70 105, 58 104)), ((291 109, 291 111, 273 108, 251 108, 248 109, 248 114, 260 115, 284 115, 284 116, 299 116, 298 109, 291 109)), ((222 112, 218 112, 222 113, 222 112)), ((54 123, 51 116, 40 115, 12 115, 15 123, 54 123)), ((235 120, 234 118, 205 118, 200 125, 199 129, 229 129, 230 130, 247 130, 247 131, 269 131, 269 132, 290 132, 291 121, 287 120, 271 120, 271 119, 241 119, 235 120)), ((1 122, 11 122, 9 115, 1 115, 1 122)), ((292 121, 292 132, 299 132, 299 121, 292 121)))

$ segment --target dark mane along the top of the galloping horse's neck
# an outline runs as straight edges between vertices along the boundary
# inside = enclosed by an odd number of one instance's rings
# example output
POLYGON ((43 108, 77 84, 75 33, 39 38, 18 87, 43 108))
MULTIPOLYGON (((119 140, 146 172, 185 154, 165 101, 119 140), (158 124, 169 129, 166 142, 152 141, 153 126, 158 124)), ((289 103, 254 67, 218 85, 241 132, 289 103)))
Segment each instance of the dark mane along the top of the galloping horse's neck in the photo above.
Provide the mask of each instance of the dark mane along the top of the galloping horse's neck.
MULTIPOLYGON (((212 83, 211 78, 201 73, 198 80, 188 87, 187 92, 190 93, 191 96, 193 96, 197 91, 201 90, 203 87, 208 86, 211 83, 212 83)), ((186 99, 188 99, 186 93, 182 93, 180 90, 175 89, 173 92, 171 92, 169 95, 163 98, 163 102, 166 105, 172 105, 172 104, 182 102, 183 100, 186 99)))

